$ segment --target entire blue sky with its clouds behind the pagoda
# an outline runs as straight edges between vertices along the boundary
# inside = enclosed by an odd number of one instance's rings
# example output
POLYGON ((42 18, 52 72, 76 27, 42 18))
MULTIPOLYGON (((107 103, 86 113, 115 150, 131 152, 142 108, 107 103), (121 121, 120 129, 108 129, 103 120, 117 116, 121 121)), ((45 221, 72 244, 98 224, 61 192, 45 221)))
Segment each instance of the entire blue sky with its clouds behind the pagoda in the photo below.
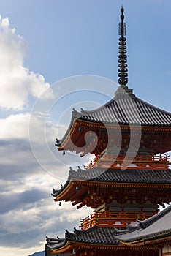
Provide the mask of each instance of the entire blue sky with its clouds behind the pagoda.
POLYGON ((65 112, 67 107, 62 134, 73 105, 81 108, 87 97, 91 106, 98 106, 113 97, 121 4, 127 25, 129 88, 140 99, 170 111, 170 0, 0 0, 0 249, 4 256, 43 249, 46 235, 62 236, 66 227, 77 227, 79 217, 89 211, 75 211, 70 204, 58 208, 50 197, 51 188, 61 184, 56 172, 64 183, 68 166, 83 164, 72 154, 61 162, 54 157, 58 154, 56 119, 58 109, 65 112), (47 99, 54 103, 55 89, 63 96, 79 86, 86 89, 89 82, 83 77, 66 79, 78 75, 96 76, 91 80, 96 94, 84 93, 83 98, 78 94, 75 101, 67 96, 58 100, 60 107, 49 110, 50 155, 41 137, 43 111, 34 116, 29 138, 31 109, 37 99, 42 108, 48 105, 47 99), (51 86, 54 83, 57 86, 51 86))

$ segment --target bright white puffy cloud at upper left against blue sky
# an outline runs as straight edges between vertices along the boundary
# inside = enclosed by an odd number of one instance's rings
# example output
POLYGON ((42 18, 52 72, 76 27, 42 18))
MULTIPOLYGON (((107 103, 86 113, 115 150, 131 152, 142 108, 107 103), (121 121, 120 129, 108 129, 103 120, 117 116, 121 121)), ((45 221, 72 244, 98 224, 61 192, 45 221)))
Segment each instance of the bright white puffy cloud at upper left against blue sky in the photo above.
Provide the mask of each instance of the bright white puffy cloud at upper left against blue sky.
POLYGON ((24 67, 27 44, 23 37, 9 26, 8 18, 0 18, 0 107, 21 110, 28 97, 53 97, 49 83, 42 75, 24 67))

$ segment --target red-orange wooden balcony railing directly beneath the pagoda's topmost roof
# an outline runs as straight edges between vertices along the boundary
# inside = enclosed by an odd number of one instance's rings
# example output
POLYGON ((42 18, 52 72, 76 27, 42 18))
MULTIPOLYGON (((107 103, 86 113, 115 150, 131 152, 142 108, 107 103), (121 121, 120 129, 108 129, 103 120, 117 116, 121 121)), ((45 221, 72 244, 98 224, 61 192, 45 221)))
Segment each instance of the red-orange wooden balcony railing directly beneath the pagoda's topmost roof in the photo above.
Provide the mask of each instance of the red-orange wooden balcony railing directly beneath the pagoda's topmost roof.
POLYGON ((102 157, 96 157, 86 168, 108 167, 118 169, 122 166, 123 162, 127 165, 128 169, 167 170, 169 167, 169 156, 137 155, 132 159, 132 156, 119 155, 116 157, 114 154, 104 154, 102 157))

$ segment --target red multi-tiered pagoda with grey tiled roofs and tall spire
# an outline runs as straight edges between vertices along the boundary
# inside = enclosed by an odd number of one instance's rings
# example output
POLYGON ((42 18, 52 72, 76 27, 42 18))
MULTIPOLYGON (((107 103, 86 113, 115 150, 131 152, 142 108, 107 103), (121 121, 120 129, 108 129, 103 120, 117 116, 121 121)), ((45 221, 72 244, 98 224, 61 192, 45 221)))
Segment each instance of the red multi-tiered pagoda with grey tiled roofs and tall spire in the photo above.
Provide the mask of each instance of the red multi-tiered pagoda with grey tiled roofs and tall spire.
POLYGON ((127 86, 123 11, 122 7, 115 96, 96 110, 73 110, 64 137, 56 140, 59 151, 95 157, 85 169, 70 167, 64 186, 53 189, 55 201, 94 211, 81 219, 80 230, 66 230, 65 238, 47 238, 47 256, 139 256, 142 252, 156 256, 161 252, 157 244, 132 247, 124 243, 124 234, 148 218, 155 219, 159 206, 171 201, 166 154, 171 150, 171 113, 137 98, 127 86))

